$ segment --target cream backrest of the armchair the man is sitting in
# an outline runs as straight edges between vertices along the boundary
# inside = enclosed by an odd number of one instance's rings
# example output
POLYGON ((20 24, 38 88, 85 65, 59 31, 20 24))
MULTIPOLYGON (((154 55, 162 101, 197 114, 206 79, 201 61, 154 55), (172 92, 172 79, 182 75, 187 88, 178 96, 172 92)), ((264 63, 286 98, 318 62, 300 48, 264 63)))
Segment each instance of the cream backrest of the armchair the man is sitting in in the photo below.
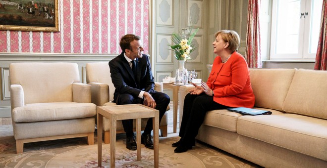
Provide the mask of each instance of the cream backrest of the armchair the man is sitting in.
POLYGON ((86 83, 102 83, 109 85, 109 101, 113 100, 114 85, 111 82, 108 62, 86 64, 86 83))

